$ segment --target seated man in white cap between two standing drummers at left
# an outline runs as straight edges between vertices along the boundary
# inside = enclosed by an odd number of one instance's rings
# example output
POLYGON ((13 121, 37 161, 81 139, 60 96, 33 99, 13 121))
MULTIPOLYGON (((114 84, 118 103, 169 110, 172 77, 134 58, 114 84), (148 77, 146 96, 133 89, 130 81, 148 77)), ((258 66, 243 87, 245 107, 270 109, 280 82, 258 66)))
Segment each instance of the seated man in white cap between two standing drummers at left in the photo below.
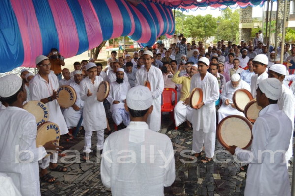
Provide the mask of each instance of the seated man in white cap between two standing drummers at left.
MULTIPOLYGON (((84 101, 81 100, 80 97, 80 82, 82 81, 82 72, 80 70, 76 70, 73 72, 74 82, 71 82, 69 86, 73 87, 76 91, 77 99, 72 107, 66 108, 63 111, 63 116, 66 122, 67 127, 73 128, 77 127, 79 120, 82 116, 84 101)), ((83 123, 81 124, 83 126, 83 123)), ((71 132, 71 131, 70 131, 71 132)))

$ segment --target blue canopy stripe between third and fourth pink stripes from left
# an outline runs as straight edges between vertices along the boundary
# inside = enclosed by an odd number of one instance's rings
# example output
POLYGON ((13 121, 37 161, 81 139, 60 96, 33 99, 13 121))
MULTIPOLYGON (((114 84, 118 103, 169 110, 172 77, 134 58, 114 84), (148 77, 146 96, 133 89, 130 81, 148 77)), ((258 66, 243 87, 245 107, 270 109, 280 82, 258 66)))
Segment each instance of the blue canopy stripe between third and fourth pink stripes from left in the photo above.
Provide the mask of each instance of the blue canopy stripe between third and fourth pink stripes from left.
POLYGON ((114 31, 113 19, 110 9, 104 0, 91 0, 91 2, 98 16, 102 38, 103 40, 108 40, 111 38, 114 31))

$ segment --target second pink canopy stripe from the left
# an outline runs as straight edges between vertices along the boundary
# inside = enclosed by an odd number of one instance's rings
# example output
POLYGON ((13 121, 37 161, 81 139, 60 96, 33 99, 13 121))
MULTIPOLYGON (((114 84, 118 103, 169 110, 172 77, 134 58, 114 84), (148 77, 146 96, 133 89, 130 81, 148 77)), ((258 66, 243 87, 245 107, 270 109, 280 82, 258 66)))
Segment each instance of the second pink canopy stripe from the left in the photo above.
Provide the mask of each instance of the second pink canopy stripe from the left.
POLYGON ((64 57, 75 56, 79 38, 75 20, 66 0, 48 0, 59 37, 59 52, 64 57))

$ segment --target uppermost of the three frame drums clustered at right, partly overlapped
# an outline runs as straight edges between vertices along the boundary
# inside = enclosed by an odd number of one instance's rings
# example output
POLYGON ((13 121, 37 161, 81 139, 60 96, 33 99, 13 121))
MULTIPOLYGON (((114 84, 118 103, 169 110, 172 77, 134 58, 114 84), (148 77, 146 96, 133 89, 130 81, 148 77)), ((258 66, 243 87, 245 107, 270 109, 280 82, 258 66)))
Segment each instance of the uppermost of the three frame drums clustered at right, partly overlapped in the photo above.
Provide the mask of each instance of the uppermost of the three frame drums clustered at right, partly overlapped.
POLYGON ((240 112, 244 112, 245 106, 253 99, 251 93, 246 89, 238 89, 233 94, 233 104, 240 112))

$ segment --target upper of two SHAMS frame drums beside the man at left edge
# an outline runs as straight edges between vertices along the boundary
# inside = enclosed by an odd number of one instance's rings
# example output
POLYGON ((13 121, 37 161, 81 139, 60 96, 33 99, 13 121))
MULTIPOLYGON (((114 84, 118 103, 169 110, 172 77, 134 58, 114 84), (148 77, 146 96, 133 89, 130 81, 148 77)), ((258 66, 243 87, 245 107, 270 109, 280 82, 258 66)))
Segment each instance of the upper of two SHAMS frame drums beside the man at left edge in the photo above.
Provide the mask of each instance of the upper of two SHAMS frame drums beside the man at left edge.
POLYGON ((48 108, 46 104, 40 101, 29 101, 24 104, 23 109, 35 116, 37 127, 48 121, 48 108))

